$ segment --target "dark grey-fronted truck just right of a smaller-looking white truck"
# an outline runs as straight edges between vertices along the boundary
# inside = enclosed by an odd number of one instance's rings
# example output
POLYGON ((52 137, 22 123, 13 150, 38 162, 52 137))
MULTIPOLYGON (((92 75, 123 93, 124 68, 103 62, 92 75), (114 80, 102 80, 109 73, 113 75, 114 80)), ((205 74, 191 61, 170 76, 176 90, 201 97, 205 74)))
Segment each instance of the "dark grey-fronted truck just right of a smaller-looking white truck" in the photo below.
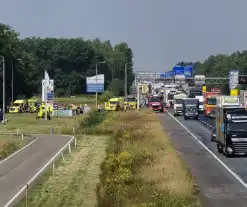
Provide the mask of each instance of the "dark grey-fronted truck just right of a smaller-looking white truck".
POLYGON ((199 100, 197 98, 183 99, 184 120, 199 118, 199 100))

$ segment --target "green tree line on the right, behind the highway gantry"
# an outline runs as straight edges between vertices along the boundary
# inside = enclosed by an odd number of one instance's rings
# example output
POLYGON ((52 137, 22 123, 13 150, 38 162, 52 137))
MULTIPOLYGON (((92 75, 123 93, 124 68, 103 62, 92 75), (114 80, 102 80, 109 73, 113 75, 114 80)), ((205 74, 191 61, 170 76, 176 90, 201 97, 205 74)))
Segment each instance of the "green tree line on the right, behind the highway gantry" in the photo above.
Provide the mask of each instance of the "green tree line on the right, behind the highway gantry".
MULTIPOLYGON (((181 61, 178 65, 193 65, 193 75, 205 75, 206 77, 228 77, 230 70, 239 70, 241 75, 247 75, 247 50, 237 51, 230 55, 217 54, 209 56, 205 61, 186 62, 181 61)), ((229 93, 228 84, 208 84, 208 88, 219 87, 224 93, 229 93)), ((239 89, 246 89, 240 85, 239 89)))

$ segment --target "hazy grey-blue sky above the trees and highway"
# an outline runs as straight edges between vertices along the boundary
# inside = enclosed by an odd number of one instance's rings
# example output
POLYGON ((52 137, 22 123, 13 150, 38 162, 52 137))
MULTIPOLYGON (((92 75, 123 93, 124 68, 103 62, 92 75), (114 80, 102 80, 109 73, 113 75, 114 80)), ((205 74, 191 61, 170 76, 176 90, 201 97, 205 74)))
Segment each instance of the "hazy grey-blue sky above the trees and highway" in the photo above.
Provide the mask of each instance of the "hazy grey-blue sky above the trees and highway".
POLYGON ((180 60, 246 49, 246 8, 246 0, 1 0, 0 22, 22 38, 125 41, 135 69, 167 71, 180 60))

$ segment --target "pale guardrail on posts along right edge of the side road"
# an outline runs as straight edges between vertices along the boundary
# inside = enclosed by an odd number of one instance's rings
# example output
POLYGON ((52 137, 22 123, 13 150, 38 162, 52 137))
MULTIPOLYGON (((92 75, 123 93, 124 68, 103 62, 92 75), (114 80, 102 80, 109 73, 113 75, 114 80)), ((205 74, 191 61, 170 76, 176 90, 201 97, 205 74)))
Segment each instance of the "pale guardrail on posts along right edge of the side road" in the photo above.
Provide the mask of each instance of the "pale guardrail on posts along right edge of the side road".
MULTIPOLYGON (((69 136, 69 135, 61 135, 61 136, 69 136)), ((38 139, 38 138, 37 138, 38 139)), ((71 139, 64 145, 40 170, 37 172, 10 200, 4 207, 12 207, 17 205, 23 198, 26 198, 26 206, 28 199, 29 190, 35 185, 35 181, 39 179, 45 172, 52 167, 53 173, 55 171, 55 162, 61 156, 64 160, 64 151, 68 149, 69 153, 71 153, 71 145, 74 142, 74 146, 76 147, 76 138, 71 136, 71 139)))

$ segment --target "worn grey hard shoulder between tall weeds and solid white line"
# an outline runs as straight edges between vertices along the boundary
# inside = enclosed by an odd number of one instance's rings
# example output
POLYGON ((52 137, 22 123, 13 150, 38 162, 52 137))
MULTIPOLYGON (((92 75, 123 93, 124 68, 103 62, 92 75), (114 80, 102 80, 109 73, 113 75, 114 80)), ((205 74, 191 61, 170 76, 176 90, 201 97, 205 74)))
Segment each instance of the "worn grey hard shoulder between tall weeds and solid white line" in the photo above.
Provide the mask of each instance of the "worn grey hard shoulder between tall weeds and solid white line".
MULTIPOLYGON (((195 176, 204 206, 246 206, 247 190, 169 114, 157 116, 180 157, 195 176)), ((202 127, 200 123, 194 123, 197 124, 195 127, 202 127)))

